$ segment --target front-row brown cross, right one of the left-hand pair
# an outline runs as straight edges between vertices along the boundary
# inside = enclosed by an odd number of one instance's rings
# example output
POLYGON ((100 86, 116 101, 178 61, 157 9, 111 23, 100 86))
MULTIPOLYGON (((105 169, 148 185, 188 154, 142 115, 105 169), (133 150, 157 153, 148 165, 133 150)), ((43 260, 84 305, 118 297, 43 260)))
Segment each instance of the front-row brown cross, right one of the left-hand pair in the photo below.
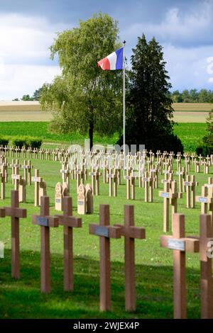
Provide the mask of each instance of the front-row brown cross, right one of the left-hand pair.
POLYGON ((72 198, 62 198, 63 215, 55 215, 64 226, 64 290, 73 290, 73 227, 82 227, 82 219, 72 216, 72 198))

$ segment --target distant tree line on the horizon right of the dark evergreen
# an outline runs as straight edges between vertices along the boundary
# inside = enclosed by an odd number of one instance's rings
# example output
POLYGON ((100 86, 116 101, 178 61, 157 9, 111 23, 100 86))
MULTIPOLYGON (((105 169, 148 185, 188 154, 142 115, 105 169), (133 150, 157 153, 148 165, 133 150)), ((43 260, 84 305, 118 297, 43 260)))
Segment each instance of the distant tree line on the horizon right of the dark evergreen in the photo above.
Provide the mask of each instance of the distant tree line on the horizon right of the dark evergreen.
POLYGON ((213 90, 197 89, 175 90, 170 93, 173 103, 213 103, 213 90))

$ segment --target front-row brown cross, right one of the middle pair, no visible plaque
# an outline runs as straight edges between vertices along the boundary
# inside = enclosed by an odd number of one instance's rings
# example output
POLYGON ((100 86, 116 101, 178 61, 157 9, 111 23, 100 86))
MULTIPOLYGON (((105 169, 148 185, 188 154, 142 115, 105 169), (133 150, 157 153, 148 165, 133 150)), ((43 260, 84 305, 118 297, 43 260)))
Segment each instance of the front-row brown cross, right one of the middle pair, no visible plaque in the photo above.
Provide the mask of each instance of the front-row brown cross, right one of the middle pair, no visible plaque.
POLYGON ((125 308, 126 311, 136 310, 136 283, 135 283, 135 238, 145 239, 146 232, 143 227, 134 226, 134 206, 124 205, 124 225, 114 225, 121 228, 124 236, 125 253, 125 308))

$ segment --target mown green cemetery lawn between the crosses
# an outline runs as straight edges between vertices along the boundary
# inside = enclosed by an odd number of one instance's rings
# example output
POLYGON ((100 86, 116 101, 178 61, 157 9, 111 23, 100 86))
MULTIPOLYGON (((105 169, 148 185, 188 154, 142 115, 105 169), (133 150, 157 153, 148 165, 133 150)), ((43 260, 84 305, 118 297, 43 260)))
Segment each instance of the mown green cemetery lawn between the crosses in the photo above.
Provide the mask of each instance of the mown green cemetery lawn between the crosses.
MULTIPOLYGON (((20 159, 22 162, 22 160, 20 159)), ((50 213, 57 181, 61 181, 60 162, 32 159, 35 168, 48 185, 50 213)), ((194 171, 194 170, 192 170, 194 171)), ((212 175, 213 167, 210 168, 212 175)), ((193 173, 193 172, 192 172, 193 173)), ((21 171, 22 174, 22 171, 21 171)), ((207 182, 204 174, 196 175, 200 186, 207 182)), ((102 177, 101 177, 102 178, 102 177)), ((161 176, 162 178, 162 176, 161 176)), ((89 182, 89 181, 88 181, 89 182)), ((159 181, 160 184, 160 181, 159 181)), ((200 186, 197 194, 200 193, 200 186)), ((162 188, 162 184, 160 186, 162 188)), ((6 199, 1 207, 10 205, 11 176, 6 184, 6 199)), ((100 196, 94 197, 94 213, 82 215, 82 228, 74 230, 75 290, 63 291, 62 226, 50 230, 52 291, 40 293, 40 227, 32 225, 31 215, 39 213, 33 206, 34 186, 27 186, 28 217, 21 219, 21 278, 11 279, 11 223, 0 219, 0 241, 5 244, 5 257, 0 259, 0 317, 1 318, 172 318, 173 317, 173 252, 159 246, 163 235, 163 199, 154 191, 154 203, 144 203, 144 189, 138 188, 136 200, 126 200, 126 185, 122 181, 117 198, 109 198, 108 185, 100 184, 100 196), (109 203, 111 225, 124 223, 124 204, 134 205, 135 224, 146 228, 146 240, 136 240, 137 310, 124 311, 124 239, 111 239, 111 312, 99 312, 99 237, 89 235, 88 225, 99 222, 99 204, 109 203)), ((73 214, 77 215, 76 182, 71 181, 73 214)), ((178 212, 185 214, 186 234, 199 231, 200 204, 187 209, 185 194, 178 201, 178 212)), ((187 263, 187 315, 200 317, 200 259, 189 254, 187 263)))

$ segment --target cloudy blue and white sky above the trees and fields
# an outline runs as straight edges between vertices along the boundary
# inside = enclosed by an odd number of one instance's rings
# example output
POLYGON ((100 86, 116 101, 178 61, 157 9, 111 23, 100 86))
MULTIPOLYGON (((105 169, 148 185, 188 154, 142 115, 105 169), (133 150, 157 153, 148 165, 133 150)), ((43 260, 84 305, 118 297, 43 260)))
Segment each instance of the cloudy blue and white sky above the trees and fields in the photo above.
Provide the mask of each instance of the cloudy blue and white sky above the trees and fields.
POLYGON ((0 0, 0 101, 53 81, 60 74, 49 50, 56 33, 99 11, 119 21, 128 62, 145 33, 163 46, 172 91, 213 90, 213 0, 0 0))

